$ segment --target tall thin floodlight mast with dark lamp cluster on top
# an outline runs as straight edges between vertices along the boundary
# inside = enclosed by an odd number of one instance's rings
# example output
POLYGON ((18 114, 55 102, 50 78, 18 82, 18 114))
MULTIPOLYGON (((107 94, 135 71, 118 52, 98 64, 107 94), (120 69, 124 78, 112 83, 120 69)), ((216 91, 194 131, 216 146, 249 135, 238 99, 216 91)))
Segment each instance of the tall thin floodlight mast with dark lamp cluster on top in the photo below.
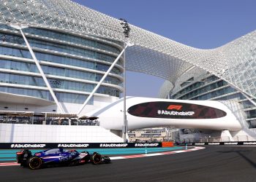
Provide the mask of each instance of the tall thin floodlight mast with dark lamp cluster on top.
MULTIPOLYGON (((123 25, 122 28, 124 28, 124 37, 126 39, 126 41, 124 41, 124 47, 127 46, 128 43, 128 38, 129 38, 129 31, 131 30, 131 28, 129 28, 129 24, 127 23, 127 20, 124 20, 123 18, 120 18, 119 20, 121 20, 122 22, 120 23, 121 25, 123 25)), ((124 143, 125 142, 129 142, 128 141, 128 123, 127 123, 127 87, 126 87, 126 63, 125 63, 125 51, 124 51, 124 72, 123 72, 123 76, 124 76, 124 125, 123 125, 123 138, 124 138, 124 143)))

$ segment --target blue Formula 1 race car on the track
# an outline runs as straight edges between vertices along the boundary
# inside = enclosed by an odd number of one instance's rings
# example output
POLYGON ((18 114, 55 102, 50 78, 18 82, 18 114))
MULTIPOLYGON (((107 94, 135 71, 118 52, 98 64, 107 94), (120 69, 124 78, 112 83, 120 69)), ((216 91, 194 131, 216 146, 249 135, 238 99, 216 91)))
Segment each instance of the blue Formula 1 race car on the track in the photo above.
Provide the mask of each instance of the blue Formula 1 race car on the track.
POLYGON ((93 154, 90 154, 88 151, 79 153, 76 150, 64 151, 62 148, 40 151, 34 155, 29 150, 21 150, 16 153, 16 159, 20 166, 29 167, 31 170, 37 170, 50 165, 72 166, 83 165, 87 162, 91 162, 94 165, 110 163, 109 157, 102 157, 97 152, 93 154))

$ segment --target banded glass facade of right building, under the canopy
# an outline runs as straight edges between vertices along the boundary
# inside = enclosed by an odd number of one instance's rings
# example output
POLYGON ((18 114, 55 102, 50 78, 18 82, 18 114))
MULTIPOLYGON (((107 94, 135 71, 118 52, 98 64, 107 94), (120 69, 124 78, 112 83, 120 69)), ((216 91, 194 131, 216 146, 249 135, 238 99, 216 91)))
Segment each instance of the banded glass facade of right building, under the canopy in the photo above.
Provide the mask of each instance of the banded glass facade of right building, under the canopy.
POLYGON ((238 92, 238 90, 230 87, 227 82, 211 74, 206 74, 206 76, 202 76, 200 79, 198 78, 191 78, 187 79, 189 82, 182 82, 176 92, 170 93, 170 98, 181 100, 236 100, 244 108, 249 127, 256 127, 255 106, 241 92, 238 92))

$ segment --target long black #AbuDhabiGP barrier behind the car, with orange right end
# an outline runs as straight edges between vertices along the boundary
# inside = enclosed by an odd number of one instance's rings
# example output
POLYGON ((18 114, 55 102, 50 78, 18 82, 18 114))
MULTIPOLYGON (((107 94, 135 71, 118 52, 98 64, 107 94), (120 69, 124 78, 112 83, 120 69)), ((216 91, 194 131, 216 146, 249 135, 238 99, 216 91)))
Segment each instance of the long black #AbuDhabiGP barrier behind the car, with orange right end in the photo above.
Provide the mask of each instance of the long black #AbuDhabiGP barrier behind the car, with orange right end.
POLYGON ((0 149, 53 149, 53 148, 142 148, 142 147, 171 147, 173 142, 162 143, 0 143, 0 149))

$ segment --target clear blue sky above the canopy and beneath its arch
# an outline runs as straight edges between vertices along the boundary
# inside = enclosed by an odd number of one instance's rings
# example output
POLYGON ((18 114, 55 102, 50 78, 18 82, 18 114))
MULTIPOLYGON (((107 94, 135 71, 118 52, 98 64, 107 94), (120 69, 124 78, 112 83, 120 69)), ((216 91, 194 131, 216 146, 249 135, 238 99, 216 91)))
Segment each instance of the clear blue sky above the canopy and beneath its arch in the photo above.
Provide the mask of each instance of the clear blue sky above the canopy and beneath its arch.
MULTIPOLYGON (((174 41, 219 47, 256 29, 255 0, 75 0, 174 41)), ((127 95, 157 97, 163 79, 127 73, 127 95)))

